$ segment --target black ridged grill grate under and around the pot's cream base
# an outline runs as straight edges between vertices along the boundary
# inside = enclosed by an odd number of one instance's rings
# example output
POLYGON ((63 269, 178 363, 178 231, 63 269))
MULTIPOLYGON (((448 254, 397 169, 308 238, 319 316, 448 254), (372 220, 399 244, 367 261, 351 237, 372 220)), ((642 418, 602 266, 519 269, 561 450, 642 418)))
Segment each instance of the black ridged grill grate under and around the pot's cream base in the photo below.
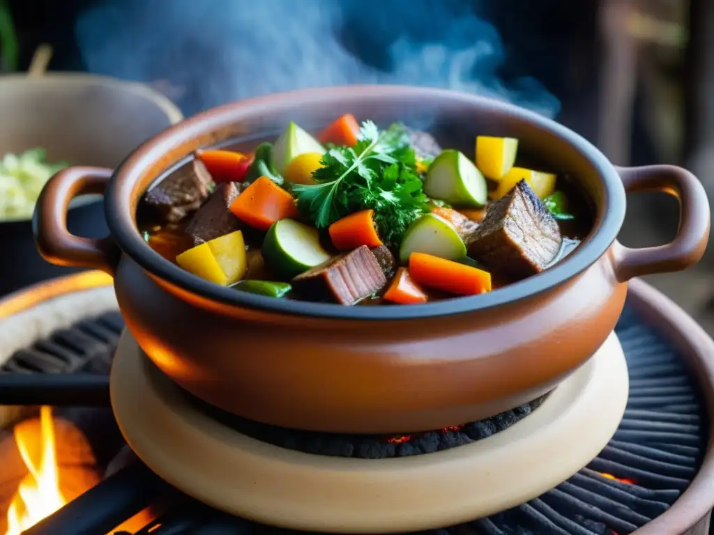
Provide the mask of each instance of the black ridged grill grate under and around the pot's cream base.
MULTIPOLYGON (((94 366, 91 362, 102 363, 94 367, 95 370, 106 370, 120 328, 121 318, 116 314, 86 320, 54 335, 49 343, 38 342, 32 350, 18 352, 16 357, 25 367, 23 372, 37 371, 29 370, 28 362, 49 361, 53 364, 43 369, 49 372, 86 371, 94 366), (90 339, 91 345, 81 345, 90 339), (43 356, 28 360, 28 352, 43 356), (57 370, 56 360, 66 362, 66 367, 57 370), (79 364, 79 360, 84 363, 79 364)), ((703 430, 706 414, 698 389, 677 353, 627 307, 616 332, 630 370, 630 398, 623 421, 603 452, 588 467, 537 499, 487 519, 427 533, 625 535, 662 514, 674 503, 698 471, 708 439, 703 430)), ((3 370, 19 371, 13 368, 19 365, 9 363, 3 370)), ((94 503, 99 504, 103 496, 111 495, 116 500, 124 496, 126 501, 131 501, 131 496, 142 491, 146 495, 146 481, 146 475, 125 477, 121 485, 116 478, 107 480, 86 493, 85 500, 89 503, 94 497, 94 503)), ((146 497, 146 504, 150 497, 159 499, 166 492, 162 485, 152 488, 156 489, 156 494, 146 497)), ((183 495, 173 503, 169 511, 135 535, 288 533, 237 519, 183 495)), ((116 519, 116 512, 107 513, 104 524, 94 514, 91 526, 94 531, 83 531, 78 520, 82 516, 80 505, 69 504, 28 534, 92 535, 106 533, 116 525, 116 522, 110 524, 116 519), (70 524, 66 519, 74 520, 70 524)), ((126 515, 129 516, 128 509, 126 515)))

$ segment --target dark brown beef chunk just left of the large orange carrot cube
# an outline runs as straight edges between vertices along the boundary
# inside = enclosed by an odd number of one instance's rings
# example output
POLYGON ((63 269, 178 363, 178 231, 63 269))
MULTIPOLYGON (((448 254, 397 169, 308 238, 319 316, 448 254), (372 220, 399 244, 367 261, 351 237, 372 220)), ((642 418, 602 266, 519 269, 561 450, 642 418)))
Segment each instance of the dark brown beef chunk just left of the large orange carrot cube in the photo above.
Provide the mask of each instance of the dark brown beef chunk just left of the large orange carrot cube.
POLYGON ((186 227, 186 233, 191 236, 193 245, 200 245, 241 229, 241 220, 236 218, 228 208, 241 193, 242 186, 241 183, 235 182, 219 184, 208 197, 206 204, 193 214, 186 227))

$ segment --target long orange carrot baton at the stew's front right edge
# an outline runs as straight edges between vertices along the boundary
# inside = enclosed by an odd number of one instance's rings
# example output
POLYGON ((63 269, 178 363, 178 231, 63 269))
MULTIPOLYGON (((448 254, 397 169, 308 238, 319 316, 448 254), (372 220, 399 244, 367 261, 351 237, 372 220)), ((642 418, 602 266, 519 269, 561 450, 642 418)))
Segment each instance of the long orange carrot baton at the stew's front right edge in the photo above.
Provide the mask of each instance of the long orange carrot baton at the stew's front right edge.
POLYGON ((426 253, 411 253, 409 273, 419 284, 444 292, 477 295, 491 291, 488 271, 426 253))

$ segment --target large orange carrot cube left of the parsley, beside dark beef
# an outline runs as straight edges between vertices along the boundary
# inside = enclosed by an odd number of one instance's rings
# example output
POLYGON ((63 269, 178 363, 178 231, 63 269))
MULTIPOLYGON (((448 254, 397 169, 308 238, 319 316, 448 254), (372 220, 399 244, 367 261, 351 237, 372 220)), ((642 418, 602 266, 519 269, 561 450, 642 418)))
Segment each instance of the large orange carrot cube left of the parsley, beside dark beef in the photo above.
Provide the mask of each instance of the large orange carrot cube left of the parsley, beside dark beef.
POLYGON ((298 208, 292 195, 266 176, 248 186, 231 204, 231 212, 258 230, 268 230, 281 219, 295 218, 298 208))

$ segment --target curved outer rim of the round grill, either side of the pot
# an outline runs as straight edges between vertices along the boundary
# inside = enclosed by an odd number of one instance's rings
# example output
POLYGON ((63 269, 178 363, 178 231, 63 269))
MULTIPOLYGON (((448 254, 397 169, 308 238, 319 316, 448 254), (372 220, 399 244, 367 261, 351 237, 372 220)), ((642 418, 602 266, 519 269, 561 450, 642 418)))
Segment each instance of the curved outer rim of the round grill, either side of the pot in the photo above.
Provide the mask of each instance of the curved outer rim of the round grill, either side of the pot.
MULTIPOLYGON (((27 310, 39 302, 62 297, 77 290, 104 287, 110 283, 108 280, 102 282, 96 278, 90 280, 90 277, 85 280, 83 275, 96 277, 97 274, 88 272, 62 277, 0 300, 0 318, 27 310)), ((708 424, 704 426, 710 439, 698 474, 673 506, 633 533, 636 535, 704 534, 709 524, 710 508, 714 504, 714 487, 710 485, 710 481, 714 478, 714 419, 712 417, 714 415, 714 359, 711 358, 714 355, 714 342, 683 310, 645 282, 639 280, 630 282, 628 303, 638 311, 638 315, 648 325, 662 332, 678 350, 698 379, 703 394, 703 405, 710 415, 708 424)), ((78 532, 73 531, 73 533, 78 532)))

